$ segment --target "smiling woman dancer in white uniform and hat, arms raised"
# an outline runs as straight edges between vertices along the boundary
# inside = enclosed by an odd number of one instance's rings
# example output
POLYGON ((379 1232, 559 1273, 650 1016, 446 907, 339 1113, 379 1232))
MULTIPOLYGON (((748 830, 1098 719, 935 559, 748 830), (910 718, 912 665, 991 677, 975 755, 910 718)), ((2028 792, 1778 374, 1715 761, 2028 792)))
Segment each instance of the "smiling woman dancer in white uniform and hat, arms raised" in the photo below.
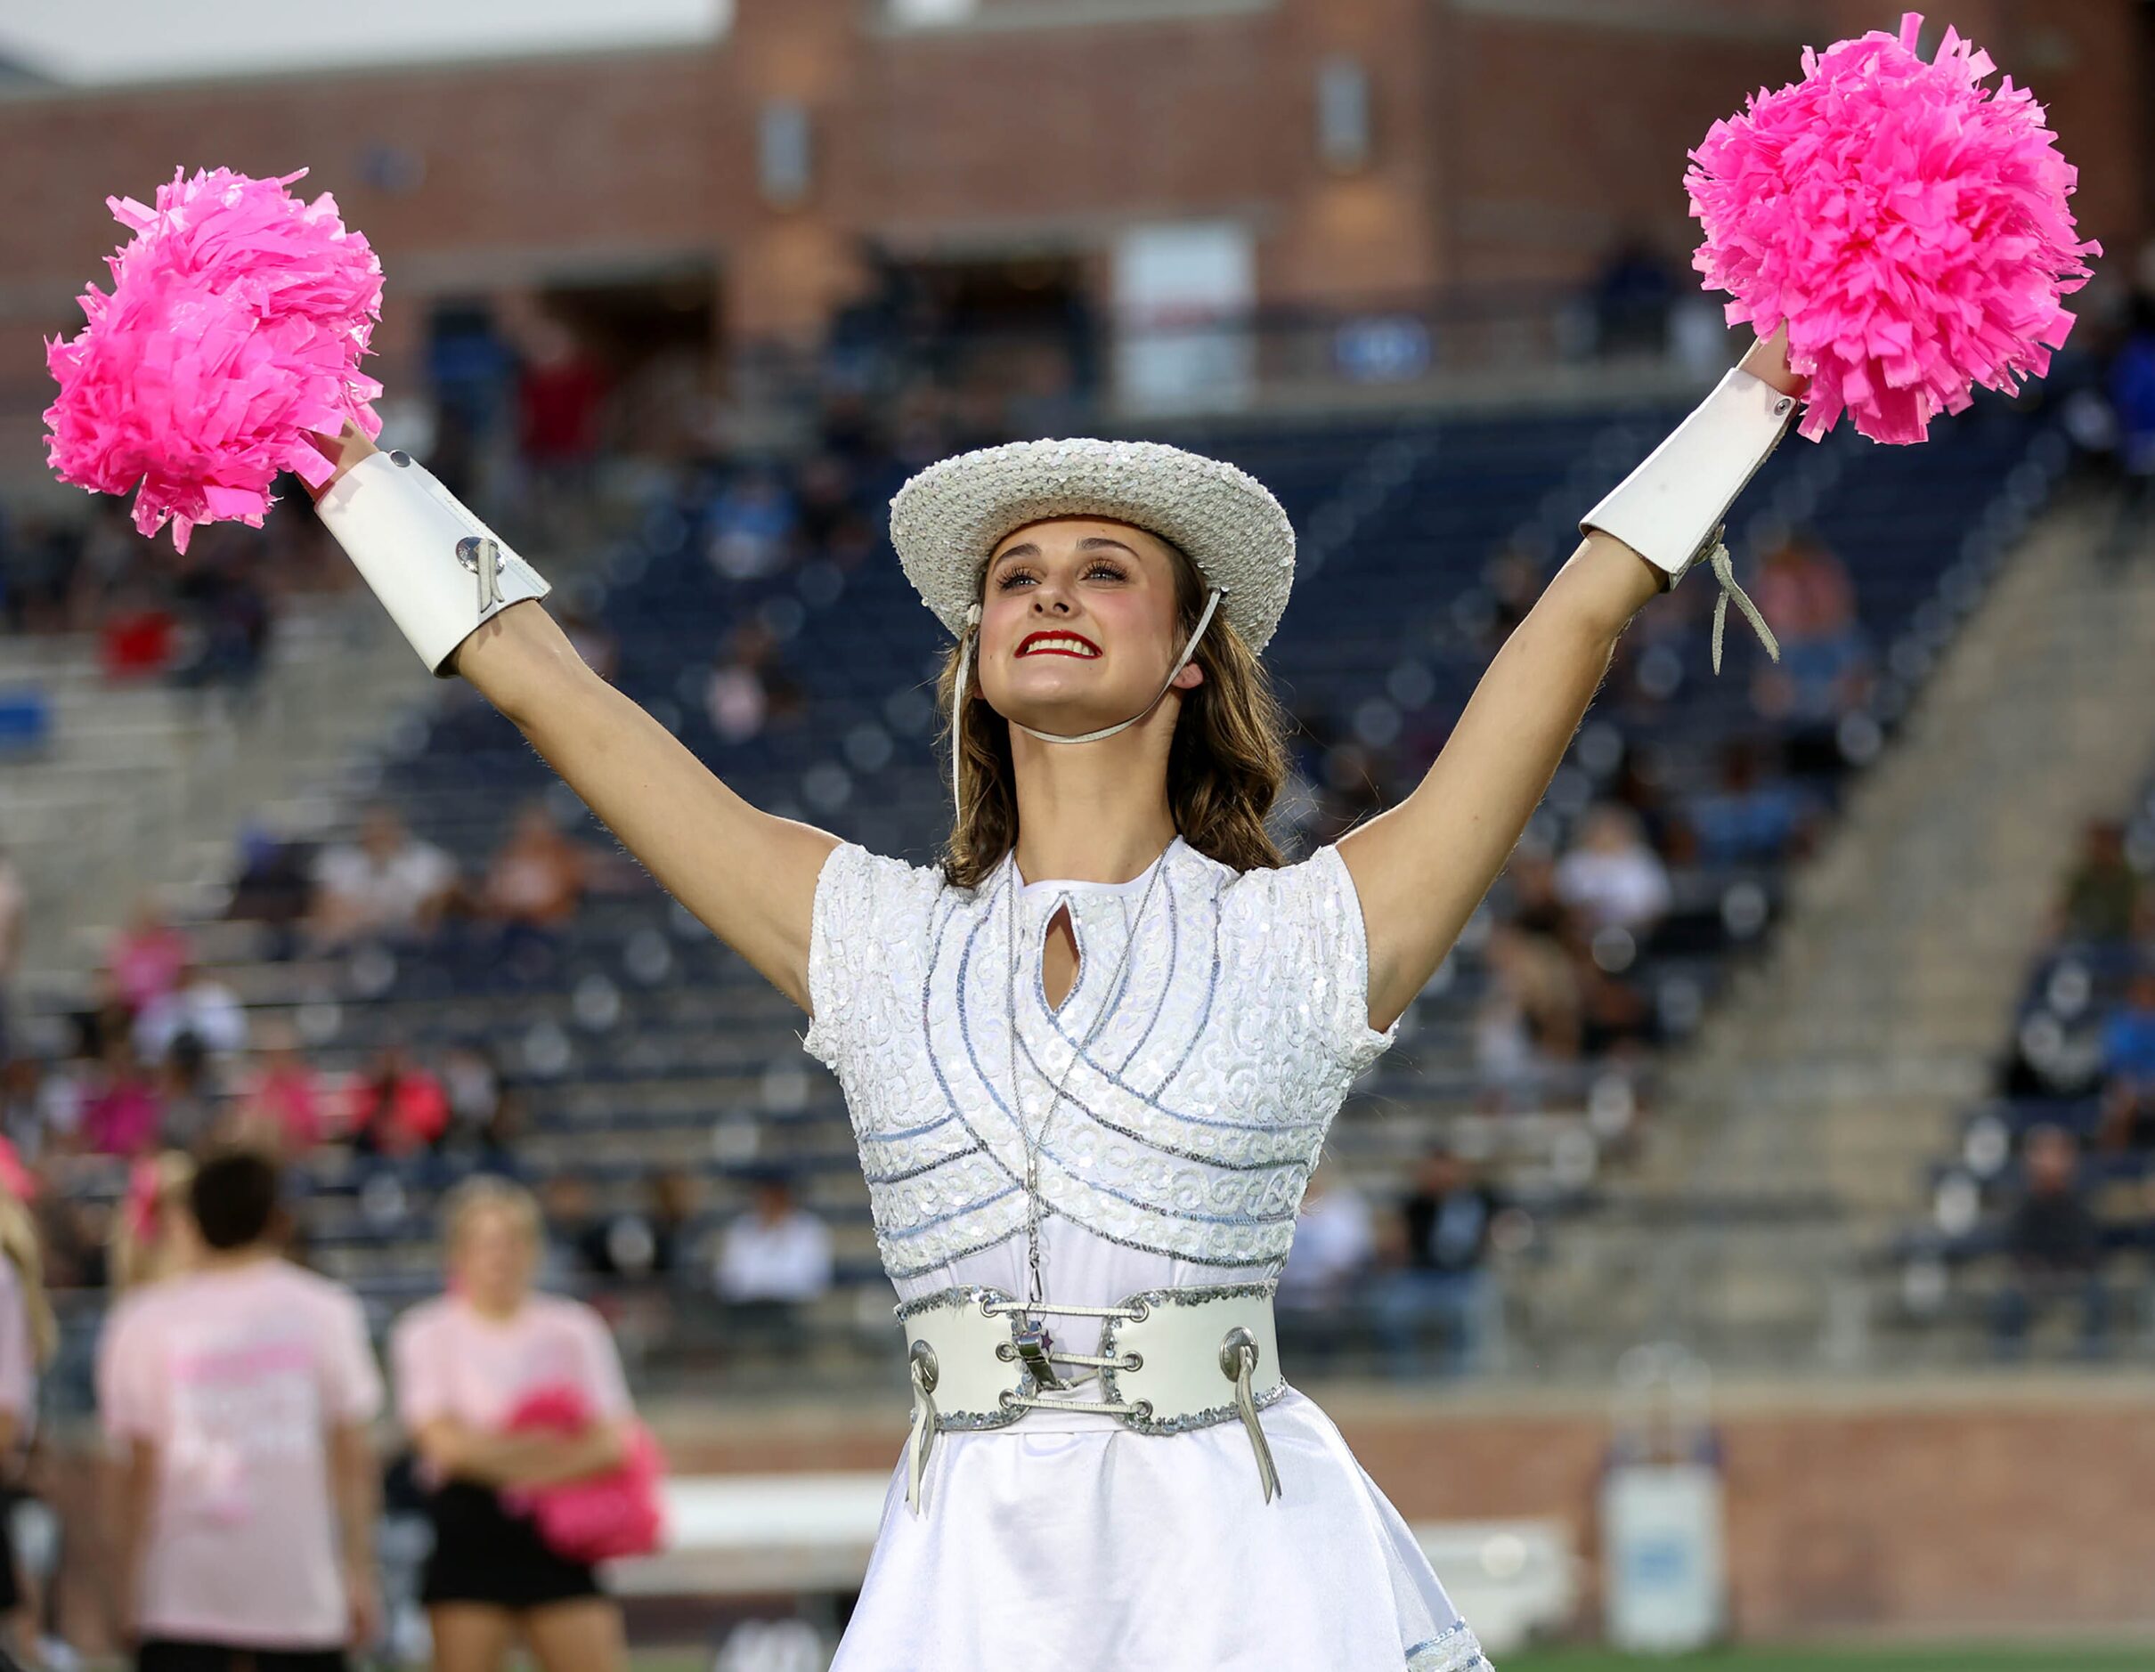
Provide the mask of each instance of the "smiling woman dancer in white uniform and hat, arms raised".
MULTIPOLYGON (((547 584, 356 431, 317 498, 437 674, 506 713, 810 1013, 901 1297, 914 1426, 840 1672, 1487 1668, 1282 1379, 1271 1284, 1353 1077, 1496 879, 1612 646, 1793 422, 1780 334, 1614 493, 1422 784, 1302 864, 1263 651, 1293 530, 1157 444, 946 459, 892 502, 957 633, 937 868, 759 812, 593 674, 547 584)), ((1431 1459, 1442 1467, 1442 1459, 1431 1459)))

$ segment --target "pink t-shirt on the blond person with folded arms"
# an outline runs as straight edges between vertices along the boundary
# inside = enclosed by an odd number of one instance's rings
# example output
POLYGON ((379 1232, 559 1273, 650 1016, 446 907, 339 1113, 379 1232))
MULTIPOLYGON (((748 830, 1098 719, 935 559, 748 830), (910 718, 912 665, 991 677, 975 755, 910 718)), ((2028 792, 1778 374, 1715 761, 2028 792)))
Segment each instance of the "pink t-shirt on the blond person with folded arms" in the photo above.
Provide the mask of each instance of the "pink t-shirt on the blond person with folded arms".
POLYGON ((455 1295, 414 1306, 390 1332, 397 1418, 496 1433, 534 1388, 569 1383, 601 1422, 629 1413, 629 1385, 606 1321, 582 1301, 530 1295, 513 1319, 487 1319, 455 1295))

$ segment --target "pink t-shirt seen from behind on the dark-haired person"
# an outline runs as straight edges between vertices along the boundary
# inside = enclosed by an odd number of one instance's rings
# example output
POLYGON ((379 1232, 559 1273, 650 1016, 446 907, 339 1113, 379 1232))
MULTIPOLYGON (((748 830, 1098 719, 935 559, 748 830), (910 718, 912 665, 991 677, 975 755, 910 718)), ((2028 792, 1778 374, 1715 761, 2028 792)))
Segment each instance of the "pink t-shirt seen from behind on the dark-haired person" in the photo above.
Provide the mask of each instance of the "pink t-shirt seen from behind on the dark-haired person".
POLYGON ((328 1435, 381 1409, 358 1299, 284 1260, 129 1295, 97 1347, 114 1444, 157 1448, 144 1635, 332 1648, 349 1616, 328 1435))

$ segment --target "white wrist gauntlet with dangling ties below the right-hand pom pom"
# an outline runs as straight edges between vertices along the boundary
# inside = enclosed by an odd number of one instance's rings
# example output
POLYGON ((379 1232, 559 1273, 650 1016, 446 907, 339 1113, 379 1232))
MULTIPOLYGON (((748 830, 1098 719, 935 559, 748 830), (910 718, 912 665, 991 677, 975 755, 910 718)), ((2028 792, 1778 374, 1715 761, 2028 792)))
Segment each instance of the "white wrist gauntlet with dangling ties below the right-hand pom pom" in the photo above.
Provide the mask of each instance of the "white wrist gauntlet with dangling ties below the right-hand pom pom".
POLYGON ((1722 597, 1713 608, 1715 672, 1722 666, 1722 618, 1730 597, 1758 629, 1767 653, 1780 655, 1774 633, 1735 584, 1728 547, 1722 545, 1722 519, 1793 424, 1793 394, 1733 366, 1692 416, 1580 519, 1582 534, 1588 528, 1614 534, 1659 569, 1664 593, 1696 562, 1713 565, 1722 582, 1722 597))

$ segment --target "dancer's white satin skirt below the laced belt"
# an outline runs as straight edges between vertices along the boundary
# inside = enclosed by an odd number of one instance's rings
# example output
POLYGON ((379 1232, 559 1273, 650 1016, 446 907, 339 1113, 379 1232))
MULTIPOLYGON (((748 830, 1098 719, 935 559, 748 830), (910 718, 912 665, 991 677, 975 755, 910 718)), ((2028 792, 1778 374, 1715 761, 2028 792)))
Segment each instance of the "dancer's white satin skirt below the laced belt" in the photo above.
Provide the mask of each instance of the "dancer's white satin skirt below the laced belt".
POLYGON ((1399 1510, 1289 1388, 1250 1435, 1028 1411, 899 1459, 832 1672, 1489 1672, 1399 1510))

